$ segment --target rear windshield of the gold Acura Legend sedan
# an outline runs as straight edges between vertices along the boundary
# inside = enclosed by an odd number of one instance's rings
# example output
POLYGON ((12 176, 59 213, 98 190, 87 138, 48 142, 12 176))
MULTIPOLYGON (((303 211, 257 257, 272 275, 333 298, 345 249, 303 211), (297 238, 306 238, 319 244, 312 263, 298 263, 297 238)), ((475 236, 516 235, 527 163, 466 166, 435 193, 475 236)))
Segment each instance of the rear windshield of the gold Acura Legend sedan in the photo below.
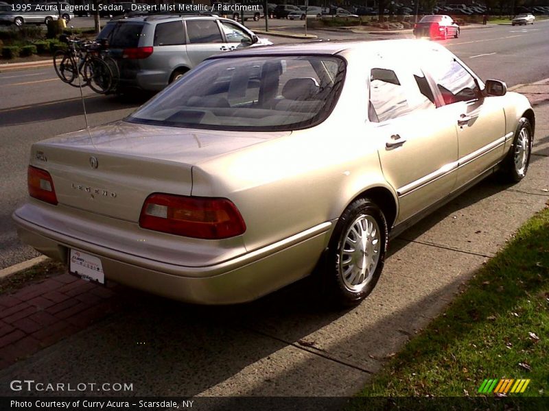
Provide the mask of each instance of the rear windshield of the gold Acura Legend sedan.
POLYGON ((312 127, 334 108, 345 63, 334 56, 220 58, 200 64, 126 121, 277 131, 312 127))

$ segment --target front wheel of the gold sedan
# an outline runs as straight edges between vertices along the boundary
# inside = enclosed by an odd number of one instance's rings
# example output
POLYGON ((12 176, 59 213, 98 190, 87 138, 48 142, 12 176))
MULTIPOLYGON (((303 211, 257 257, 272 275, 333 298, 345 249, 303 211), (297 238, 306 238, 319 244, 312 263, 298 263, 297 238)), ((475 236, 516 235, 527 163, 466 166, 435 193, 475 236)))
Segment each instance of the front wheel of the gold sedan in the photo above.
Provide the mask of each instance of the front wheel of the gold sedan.
POLYGON ((532 144, 532 125, 526 117, 522 117, 519 120, 511 149, 509 149, 509 153, 502 162, 501 174, 504 182, 517 183, 526 176, 530 164, 532 144))

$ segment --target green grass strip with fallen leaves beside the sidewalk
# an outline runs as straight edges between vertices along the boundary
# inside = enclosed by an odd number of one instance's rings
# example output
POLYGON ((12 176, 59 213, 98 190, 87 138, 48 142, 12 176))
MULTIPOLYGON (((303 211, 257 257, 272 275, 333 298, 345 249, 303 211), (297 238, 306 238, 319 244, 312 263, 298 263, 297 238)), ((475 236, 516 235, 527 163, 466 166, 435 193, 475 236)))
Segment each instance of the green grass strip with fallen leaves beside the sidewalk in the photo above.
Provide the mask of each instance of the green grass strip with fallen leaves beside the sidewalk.
MULTIPOLYGON (((479 409, 491 409, 494 397, 524 401, 524 396, 547 395, 549 208, 527 221, 447 310, 410 340, 357 397, 385 397, 381 402, 371 399, 377 401, 376 408, 390 406, 394 399, 388 397, 477 397, 469 403, 487 401, 487 408, 479 409), (495 379, 497 388, 502 378, 530 382, 524 393, 511 393, 512 386, 506 395, 478 392, 489 383, 485 379, 495 379)), ((371 401, 355 398, 347 409, 369 409, 371 401)), ((433 405, 444 408, 441 403, 433 405)), ((544 409, 548 401, 530 406, 524 409, 544 409)))

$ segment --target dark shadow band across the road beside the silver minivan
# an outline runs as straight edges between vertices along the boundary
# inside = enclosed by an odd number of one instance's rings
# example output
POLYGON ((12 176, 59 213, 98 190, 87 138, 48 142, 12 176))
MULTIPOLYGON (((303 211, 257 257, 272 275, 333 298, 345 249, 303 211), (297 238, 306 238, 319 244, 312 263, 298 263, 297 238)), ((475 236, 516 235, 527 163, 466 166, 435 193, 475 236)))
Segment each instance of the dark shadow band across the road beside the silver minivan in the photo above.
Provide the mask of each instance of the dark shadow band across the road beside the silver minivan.
MULTIPOLYGON (((135 97, 133 99, 122 99, 115 96, 92 95, 84 97, 87 114, 111 112, 128 108, 137 108, 145 103, 150 95, 135 97)), ((45 103, 43 105, 24 105, 6 110, 0 110, 0 127, 10 125, 23 125, 41 121, 55 121, 67 119, 73 116, 82 116, 82 101, 80 99, 65 99, 45 103)))

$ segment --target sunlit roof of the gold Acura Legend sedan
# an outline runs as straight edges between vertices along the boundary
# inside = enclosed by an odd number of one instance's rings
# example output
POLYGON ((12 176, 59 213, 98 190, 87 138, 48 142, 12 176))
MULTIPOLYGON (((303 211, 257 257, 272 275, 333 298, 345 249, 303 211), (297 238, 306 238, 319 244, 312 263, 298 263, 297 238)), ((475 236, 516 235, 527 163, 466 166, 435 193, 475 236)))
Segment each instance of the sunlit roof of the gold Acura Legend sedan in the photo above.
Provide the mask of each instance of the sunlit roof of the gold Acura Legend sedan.
MULTIPOLYGON (((422 40, 414 39, 379 40, 375 42, 360 40, 312 41, 265 47, 249 47, 248 49, 231 51, 231 53, 213 55, 211 59, 260 55, 336 55, 344 51, 376 53, 382 50, 416 48, 425 44, 426 42, 422 40)), ((428 44, 436 47, 432 42, 428 42, 428 44)))

